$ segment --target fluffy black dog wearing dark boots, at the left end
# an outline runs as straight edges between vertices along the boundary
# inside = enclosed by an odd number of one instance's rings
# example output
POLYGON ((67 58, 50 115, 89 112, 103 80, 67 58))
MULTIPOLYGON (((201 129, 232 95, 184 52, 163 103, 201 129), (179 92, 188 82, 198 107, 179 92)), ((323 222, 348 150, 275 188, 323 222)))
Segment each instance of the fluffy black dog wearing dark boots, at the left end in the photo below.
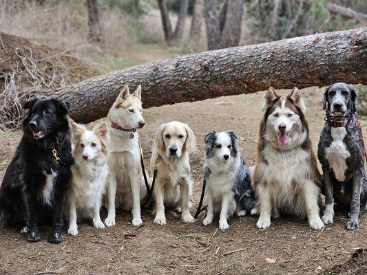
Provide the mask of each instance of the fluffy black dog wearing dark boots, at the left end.
POLYGON ((27 225, 27 241, 40 241, 38 223, 52 223, 51 243, 63 241, 61 212, 71 176, 68 105, 33 99, 23 137, 0 188, 0 225, 27 225))

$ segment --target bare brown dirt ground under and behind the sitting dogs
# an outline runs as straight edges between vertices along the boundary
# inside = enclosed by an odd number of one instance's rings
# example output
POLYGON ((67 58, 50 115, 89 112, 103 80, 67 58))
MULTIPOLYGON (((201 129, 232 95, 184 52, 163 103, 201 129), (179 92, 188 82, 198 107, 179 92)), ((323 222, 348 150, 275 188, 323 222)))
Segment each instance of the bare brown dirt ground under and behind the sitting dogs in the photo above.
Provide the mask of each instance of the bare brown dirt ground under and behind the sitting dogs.
MULTIPOLYGON (((316 150, 324 124, 319 105, 322 92, 306 89, 304 94, 316 150)), ((145 110, 146 126, 140 131, 145 165, 158 125, 171 120, 187 122, 198 139, 198 153, 191 156, 193 202, 197 206, 205 133, 235 131, 241 137, 240 148, 247 164, 253 166, 263 97, 261 92, 145 110)), ((0 135, 0 179, 20 137, 20 132, 0 135)), ((194 211, 192 208, 191 212, 194 211)), ((160 226, 152 223, 154 217, 149 210, 142 214, 140 228, 131 225, 128 212, 118 212, 112 228, 97 230, 85 222, 79 225, 77 237, 65 233, 65 241, 59 245, 48 243, 48 228, 42 228, 43 240, 39 243, 27 243, 19 230, 0 229, 0 274, 367 273, 366 252, 359 261, 349 261, 357 248, 367 248, 367 215, 361 217, 359 229, 354 232, 344 228, 345 213, 337 213, 335 223, 319 231, 310 230, 306 221, 291 217, 272 221, 267 230, 255 227, 256 217, 236 217, 229 222, 229 230, 221 232, 217 230, 218 217, 213 224, 204 226, 202 215, 200 221, 185 224, 178 214, 167 212, 167 225, 160 226)), ((102 218, 106 216, 103 210, 102 218)))

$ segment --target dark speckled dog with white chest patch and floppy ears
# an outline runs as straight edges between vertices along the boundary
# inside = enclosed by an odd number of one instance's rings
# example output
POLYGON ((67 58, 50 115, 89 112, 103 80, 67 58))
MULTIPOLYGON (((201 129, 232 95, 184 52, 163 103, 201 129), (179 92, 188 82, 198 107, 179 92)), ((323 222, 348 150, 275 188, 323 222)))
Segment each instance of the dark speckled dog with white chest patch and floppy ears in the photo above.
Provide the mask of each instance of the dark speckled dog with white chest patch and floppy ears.
POLYGON ((355 89, 345 83, 326 88, 323 104, 327 121, 317 152, 326 196, 322 220, 333 223, 335 199, 337 206, 350 209, 348 230, 358 228, 359 213, 367 210, 367 172, 356 98, 355 89))

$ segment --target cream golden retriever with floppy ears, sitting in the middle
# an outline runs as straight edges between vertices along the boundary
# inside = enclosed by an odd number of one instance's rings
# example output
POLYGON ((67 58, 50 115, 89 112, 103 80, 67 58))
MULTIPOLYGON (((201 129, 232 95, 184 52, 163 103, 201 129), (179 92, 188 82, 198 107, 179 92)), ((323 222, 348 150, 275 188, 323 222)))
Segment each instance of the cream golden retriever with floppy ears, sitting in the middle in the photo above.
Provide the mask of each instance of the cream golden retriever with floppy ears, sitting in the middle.
POLYGON ((182 221, 193 223, 189 210, 192 193, 189 153, 196 150, 193 131, 181 122, 160 125, 154 138, 150 161, 151 174, 157 169, 154 196, 156 218, 154 223, 165 225, 165 206, 177 208, 181 198, 182 221))

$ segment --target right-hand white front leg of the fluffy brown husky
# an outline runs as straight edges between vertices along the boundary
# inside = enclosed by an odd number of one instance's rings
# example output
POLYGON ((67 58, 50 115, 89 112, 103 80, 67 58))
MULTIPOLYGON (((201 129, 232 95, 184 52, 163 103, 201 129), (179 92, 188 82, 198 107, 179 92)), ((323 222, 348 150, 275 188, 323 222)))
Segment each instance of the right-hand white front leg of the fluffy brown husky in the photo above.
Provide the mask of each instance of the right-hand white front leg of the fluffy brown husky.
POLYGON ((302 185, 304 203, 308 224, 313 230, 319 230, 324 227, 324 223, 319 217, 319 187, 315 182, 307 180, 302 185))

